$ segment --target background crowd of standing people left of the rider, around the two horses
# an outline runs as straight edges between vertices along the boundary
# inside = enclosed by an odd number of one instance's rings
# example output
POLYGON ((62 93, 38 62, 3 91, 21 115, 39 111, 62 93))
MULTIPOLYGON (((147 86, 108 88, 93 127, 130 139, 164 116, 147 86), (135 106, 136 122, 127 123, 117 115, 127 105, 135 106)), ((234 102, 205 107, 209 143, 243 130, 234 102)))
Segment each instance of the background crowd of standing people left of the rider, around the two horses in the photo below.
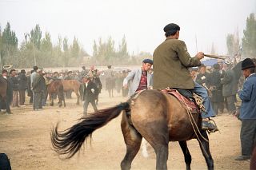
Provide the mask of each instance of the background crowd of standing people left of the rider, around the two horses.
MULTIPOLYGON (((114 71, 110 65, 108 69, 106 68, 106 70, 102 71, 95 69, 95 66, 91 65, 90 69, 82 66, 81 71, 66 70, 53 73, 45 69, 39 69, 38 66, 34 66, 33 70, 27 72, 25 69, 20 71, 16 69, 2 69, 0 77, 4 78, 7 82, 7 94, 6 101, 0 100, 0 110, 1 113, 11 113, 10 109, 6 108, 4 102, 7 103, 7 106, 11 107, 26 107, 25 101, 27 96, 29 99, 26 101, 26 104, 33 105, 34 111, 38 111, 46 105, 48 98, 47 86, 50 85, 51 81, 76 80, 86 85, 86 81, 83 80, 85 77, 96 84, 97 89, 95 89, 94 95, 96 105, 98 105, 98 94, 101 93, 103 87, 108 91, 111 90, 110 97, 114 97, 114 89, 117 93, 122 91, 122 97, 127 97, 128 90, 122 88, 122 81, 129 71, 129 69, 114 71)), ((66 91, 65 97, 71 98, 71 93, 72 91, 70 90, 66 91)), ((82 99, 85 100, 86 95, 82 96, 82 99)))

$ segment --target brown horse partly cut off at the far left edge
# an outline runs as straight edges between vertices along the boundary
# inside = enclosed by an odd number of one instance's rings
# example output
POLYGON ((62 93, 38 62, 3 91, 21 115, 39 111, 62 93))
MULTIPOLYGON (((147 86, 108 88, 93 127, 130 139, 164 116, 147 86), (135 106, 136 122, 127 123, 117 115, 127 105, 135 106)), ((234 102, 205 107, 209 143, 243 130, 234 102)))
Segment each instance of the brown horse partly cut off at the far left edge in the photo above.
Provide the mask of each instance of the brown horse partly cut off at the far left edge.
POLYGON ((0 110, 6 109, 6 113, 10 113, 10 105, 7 101, 7 81, 4 77, 0 77, 0 110))

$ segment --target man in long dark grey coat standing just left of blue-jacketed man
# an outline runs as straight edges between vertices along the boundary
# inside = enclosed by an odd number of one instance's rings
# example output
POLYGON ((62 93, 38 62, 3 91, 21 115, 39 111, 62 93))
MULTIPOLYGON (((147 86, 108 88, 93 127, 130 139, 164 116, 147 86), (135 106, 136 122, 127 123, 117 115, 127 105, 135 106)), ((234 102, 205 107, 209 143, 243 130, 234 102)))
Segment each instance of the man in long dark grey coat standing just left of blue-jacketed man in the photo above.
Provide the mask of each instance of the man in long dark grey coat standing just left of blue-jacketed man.
POLYGON ((226 71, 222 78, 222 95, 225 99, 226 109, 230 114, 234 114, 236 111, 235 95, 237 93, 237 81, 235 80, 234 70, 231 69, 231 63, 226 62, 224 65, 226 71))

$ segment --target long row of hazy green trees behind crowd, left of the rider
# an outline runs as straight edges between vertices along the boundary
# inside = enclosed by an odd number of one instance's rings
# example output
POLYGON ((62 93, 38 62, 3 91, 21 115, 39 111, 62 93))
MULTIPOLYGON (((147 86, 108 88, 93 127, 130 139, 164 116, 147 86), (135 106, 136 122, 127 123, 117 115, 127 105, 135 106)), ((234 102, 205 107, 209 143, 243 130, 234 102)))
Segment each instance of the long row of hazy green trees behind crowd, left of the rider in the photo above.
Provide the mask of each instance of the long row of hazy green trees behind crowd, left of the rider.
POLYGON ((14 65, 15 68, 28 68, 33 65, 40 67, 70 67, 81 65, 137 65, 142 62, 142 57, 150 57, 150 53, 141 52, 135 57, 127 51, 126 37, 115 48, 115 42, 110 37, 106 42, 102 38, 94 41, 93 56, 74 38, 69 45, 68 38, 58 37, 57 44, 53 44, 50 33, 42 35, 39 25, 24 34, 24 40, 18 47, 18 38, 11 30, 10 23, 4 30, 0 28, 0 63, 1 65, 14 65))

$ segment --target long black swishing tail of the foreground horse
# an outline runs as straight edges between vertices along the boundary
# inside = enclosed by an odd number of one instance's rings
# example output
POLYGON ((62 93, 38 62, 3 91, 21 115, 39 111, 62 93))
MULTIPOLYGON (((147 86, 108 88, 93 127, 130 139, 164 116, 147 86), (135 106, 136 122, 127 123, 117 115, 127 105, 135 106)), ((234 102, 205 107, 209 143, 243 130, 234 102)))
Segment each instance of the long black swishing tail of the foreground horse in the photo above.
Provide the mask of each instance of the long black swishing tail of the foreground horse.
POLYGON ((60 155, 71 158, 82 147, 83 142, 88 136, 91 136, 94 130, 106 125, 122 112, 130 109, 129 102, 121 103, 109 109, 98 110, 87 117, 82 117, 78 124, 62 132, 58 132, 58 124, 51 131, 51 143, 54 150, 60 155))

